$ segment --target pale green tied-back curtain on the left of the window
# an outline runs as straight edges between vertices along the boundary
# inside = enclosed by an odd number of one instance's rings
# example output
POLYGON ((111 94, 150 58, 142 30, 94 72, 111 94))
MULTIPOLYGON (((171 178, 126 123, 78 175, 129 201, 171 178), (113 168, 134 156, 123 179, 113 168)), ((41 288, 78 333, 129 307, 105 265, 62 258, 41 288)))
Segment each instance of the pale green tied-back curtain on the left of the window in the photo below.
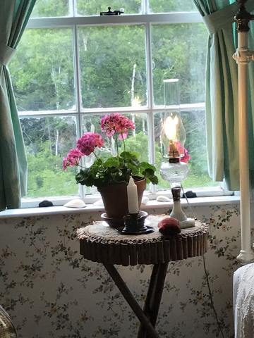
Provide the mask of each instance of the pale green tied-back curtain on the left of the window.
POLYGON ((0 210, 18 208, 27 183, 27 161, 8 72, 36 0, 1 0, 0 11, 0 210))

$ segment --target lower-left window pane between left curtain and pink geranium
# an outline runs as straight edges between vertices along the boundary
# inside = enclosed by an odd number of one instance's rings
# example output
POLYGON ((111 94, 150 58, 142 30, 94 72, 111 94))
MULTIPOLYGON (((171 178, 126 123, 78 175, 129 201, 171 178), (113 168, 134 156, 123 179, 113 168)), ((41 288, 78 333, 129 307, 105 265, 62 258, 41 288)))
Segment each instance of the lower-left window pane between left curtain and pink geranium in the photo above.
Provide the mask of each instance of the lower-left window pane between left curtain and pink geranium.
POLYGON ((63 157, 75 146, 75 118, 20 118, 20 123, 28 156, 26 197, 77 195, 75 169, 62 169, 63 157))

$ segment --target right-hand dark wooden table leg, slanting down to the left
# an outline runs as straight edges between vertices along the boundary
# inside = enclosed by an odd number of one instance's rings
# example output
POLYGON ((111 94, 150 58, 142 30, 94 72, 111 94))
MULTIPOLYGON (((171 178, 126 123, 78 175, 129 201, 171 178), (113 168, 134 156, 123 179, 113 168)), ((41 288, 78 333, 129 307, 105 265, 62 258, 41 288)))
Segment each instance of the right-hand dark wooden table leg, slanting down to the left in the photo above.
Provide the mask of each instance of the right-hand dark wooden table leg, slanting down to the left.
MULTIPOLYGON (((159 313, 159 305, 162 299, 162 292, 164 289, 164 281, 167 275, 167 267, 169 263, 162 263, 154 265, 150 284, 147 290, 147 297, 145 299, 145 306, 143 312, 149 318, 150 323, 155 327, 157 316, 159 313)), ((150 337, 149 332, 141 323, 138 330, 138 338, 150 337)))

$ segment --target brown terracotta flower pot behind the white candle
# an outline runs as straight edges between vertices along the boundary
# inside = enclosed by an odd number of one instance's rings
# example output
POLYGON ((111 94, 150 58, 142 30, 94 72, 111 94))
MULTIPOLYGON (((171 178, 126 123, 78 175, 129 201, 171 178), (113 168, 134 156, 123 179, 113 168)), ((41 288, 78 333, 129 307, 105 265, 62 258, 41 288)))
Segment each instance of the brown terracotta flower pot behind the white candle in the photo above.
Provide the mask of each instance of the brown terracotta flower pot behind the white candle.
MULTIPOLYGON (((138 188, 138 206, 140 207, 146 180, 135 180, 138 188)), ((123 216, 128 214, 127 184, 111 184, 107 187, 98 188, 106 215, 102 218, 112 227, 123 227, 123 216)))

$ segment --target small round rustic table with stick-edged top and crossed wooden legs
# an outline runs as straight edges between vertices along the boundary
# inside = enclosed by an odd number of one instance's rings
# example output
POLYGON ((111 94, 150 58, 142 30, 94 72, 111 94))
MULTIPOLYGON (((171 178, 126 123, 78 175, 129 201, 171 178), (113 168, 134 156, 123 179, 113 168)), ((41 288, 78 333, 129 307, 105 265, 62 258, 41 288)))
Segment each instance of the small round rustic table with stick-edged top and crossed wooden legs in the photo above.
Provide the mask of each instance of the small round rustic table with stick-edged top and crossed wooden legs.
POLYGON ((183 229, 174 236, 163 236, 157 225, 164 217, 165 215, 147 217, 146 225, 155 228, 155 232, 150 234, 120 234, 105 222, 95 222, 93 225, 77 230, 80 254, 90 261, 104 264, 121 294, 140 320, 138 338, 159 338, 155 324, 169 261, 201 256, 207 251, 207 225, 195 221, 195 227, 183 229), (154 265, 143 310, 114 264, 154 265))

